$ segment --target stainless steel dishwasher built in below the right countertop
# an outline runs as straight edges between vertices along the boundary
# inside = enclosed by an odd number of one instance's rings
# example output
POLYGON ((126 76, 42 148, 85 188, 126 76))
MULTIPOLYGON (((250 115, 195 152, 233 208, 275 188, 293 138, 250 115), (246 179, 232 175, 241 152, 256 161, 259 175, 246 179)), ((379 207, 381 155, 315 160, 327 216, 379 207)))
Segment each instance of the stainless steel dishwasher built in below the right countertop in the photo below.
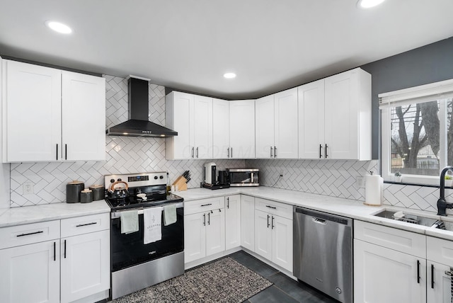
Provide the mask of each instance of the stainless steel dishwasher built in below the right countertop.
POLYGON ((352 302, 352 219, 294 207, 294 276, 352 302))

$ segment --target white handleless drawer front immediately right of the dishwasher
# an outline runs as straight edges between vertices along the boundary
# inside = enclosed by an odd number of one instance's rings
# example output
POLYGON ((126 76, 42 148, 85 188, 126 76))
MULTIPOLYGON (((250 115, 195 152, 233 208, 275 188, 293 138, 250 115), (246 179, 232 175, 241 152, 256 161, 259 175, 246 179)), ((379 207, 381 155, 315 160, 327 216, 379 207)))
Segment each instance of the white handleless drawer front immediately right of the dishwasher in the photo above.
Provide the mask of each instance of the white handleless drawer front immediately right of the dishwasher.
POLYGON ((354 238, 426 258, 426 236, 423 234, 354 220, 354 238))

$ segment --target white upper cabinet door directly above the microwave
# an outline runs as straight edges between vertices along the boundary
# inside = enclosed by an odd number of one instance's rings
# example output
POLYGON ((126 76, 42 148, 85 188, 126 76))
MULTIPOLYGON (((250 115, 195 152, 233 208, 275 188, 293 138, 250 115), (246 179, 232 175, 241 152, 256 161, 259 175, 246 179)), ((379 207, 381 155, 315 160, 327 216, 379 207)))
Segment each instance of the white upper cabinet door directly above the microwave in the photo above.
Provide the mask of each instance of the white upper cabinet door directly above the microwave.
POLYGON ((255 158, 255 101, 229 101, 230 156, 255 158))

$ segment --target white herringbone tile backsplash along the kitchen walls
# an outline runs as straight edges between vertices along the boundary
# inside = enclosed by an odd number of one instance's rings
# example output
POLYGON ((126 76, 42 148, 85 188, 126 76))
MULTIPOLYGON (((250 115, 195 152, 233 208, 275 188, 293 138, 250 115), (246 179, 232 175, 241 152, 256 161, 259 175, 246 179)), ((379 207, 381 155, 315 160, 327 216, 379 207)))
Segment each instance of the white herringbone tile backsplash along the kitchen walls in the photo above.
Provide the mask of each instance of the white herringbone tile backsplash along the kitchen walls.
MULTIPOLYGON (((127 80, 105 76, 106 126, 127 120, 127 80)), ((165 88, 149 84, 149 120, 165 125, 165 88)), ((11 207, 66 201, 66 184, 84 181, 86 187, 103 184, 103 176, 113 173, 168 171, 174 181, 190 170, 189 188, 203 179, 203 164, 208 160, 167 161, 165 140, 137 137, 105 138, 106 161, 76 161, 11 164, 11 207), (33 183, 33 194, 23 195, 23 183, 33 183)), ((316 193, 326 196, 365 200, 365 189, 356 178, 365 176, 377 161, 319 160, 215 160, 219 168, 260 168, 260 184, 316 193), (279 178, 280 173, 283 177, 279 178)), ((448 195, 452 190, 447 190, 448 195)), ((413 185, 384 185, 384 204, 417 210, 436 210, 437 188, 413 185)), ((452 199, 452 198, 450 198, 452 199)))

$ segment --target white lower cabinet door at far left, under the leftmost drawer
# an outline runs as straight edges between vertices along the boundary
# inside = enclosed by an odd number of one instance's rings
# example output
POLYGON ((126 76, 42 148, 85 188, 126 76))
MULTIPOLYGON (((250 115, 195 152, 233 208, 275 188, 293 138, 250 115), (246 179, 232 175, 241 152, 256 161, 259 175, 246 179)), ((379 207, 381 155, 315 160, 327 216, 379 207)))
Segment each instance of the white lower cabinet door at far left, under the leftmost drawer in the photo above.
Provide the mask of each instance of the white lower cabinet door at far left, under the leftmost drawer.
POLYGON ((0 250, 0 302, 59 302, 59 240, 0 250))

